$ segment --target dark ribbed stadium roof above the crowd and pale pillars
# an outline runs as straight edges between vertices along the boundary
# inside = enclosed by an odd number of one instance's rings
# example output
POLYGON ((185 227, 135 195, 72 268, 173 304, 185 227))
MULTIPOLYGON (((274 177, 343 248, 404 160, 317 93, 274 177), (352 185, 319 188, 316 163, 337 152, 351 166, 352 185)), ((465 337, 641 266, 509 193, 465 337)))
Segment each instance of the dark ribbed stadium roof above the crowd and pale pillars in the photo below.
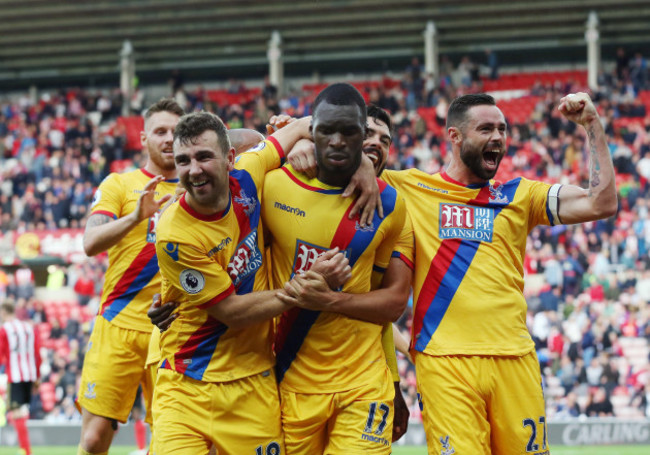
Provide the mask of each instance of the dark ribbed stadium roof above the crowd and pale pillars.
POLYGON ((650 49, 647 0, 0 0, 0 85, 117 81, 125 39, 141 78, 259 77, 274 30, 288 73, 401 69, 429 20, 454 59, 490 48, 502 64, 581 63, 592 10, 604 56, 650 49))

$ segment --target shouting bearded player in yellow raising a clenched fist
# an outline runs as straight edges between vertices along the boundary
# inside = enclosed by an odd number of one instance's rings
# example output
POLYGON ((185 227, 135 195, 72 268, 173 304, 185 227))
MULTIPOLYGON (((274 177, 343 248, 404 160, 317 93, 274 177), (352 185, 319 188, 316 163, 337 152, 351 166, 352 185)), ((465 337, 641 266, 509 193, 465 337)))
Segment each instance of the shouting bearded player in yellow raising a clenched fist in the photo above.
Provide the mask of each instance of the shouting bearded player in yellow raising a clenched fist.
POLYGON ((538 224, 597 220, 617 209, 591 99, 568 95, 559 110, 586 131, 589 189, 494 180, 506 123, 485 94, 451 103, 445 171, 383 174, 406 199, 414 226, 411 350, 430 454, 549 453, 539 363, 526 329, 526 238, 538 224))

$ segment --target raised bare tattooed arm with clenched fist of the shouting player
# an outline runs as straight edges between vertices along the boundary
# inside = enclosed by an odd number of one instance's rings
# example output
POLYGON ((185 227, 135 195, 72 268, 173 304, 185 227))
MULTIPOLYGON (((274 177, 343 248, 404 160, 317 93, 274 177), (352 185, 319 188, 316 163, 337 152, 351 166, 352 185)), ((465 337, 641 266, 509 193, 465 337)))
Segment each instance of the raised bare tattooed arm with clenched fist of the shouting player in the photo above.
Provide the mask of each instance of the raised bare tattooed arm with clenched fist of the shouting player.
POLYGON ((618 200, 612 158, 598 112, 586 93, 570 94, 558 107, 567 119, 582 125, 589 144, 589 188, 562 185, 557 195, 557 215, 564 224, 583 223, 616 214, 618 200))

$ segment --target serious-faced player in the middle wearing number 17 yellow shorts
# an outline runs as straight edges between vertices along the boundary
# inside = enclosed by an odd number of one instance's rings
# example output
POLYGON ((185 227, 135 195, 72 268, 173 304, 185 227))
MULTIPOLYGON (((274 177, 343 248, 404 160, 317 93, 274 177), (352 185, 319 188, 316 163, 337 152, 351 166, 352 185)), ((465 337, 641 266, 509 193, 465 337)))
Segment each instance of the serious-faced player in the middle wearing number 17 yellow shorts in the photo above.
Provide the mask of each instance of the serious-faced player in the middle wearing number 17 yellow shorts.
POLYGON ((272 237, 272 285, 291 277, 302 281, 315 258, 335 246, 348 255, 352 279, 344 292, 318 287, 309 296, 294 292, 303 286, 297 285, 287 288, 292 297, 282 297, 300 306, 282 315, 276 338, 287 453, 390 453, 394 388, 381 332, 402 313, 409 282, 390 281, 371 291, 371 281, 388 267, 405 206, 382 184, 383 219, 375 216, 362 226, 347 217, 351 202, 339 195, 362 160, 366 133, 365 102, 354 87, 334 84, 318 95, 311 131, 317 177, 285 166, 265 180, 262 215, 272 237))

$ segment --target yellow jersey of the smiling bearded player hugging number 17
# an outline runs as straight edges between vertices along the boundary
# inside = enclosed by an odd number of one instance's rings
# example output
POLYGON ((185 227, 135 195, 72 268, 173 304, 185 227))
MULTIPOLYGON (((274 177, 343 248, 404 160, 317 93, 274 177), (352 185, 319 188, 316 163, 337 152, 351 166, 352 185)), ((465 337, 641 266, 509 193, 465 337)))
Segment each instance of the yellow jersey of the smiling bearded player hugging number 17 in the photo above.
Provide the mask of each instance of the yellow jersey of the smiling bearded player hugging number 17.
POLYGON ((183 196, 161 216, 156 250, 162 301, 180 304, 178 318, 160 339, 162 368, 224 382, 273 366, 272 320, 229 329, 206 309, 233 292, 268 289, 260 193, 264 174, 283 158, 273 139, 239 155, 230 173, 230 203, 222 213, 201 215, 183 196))

